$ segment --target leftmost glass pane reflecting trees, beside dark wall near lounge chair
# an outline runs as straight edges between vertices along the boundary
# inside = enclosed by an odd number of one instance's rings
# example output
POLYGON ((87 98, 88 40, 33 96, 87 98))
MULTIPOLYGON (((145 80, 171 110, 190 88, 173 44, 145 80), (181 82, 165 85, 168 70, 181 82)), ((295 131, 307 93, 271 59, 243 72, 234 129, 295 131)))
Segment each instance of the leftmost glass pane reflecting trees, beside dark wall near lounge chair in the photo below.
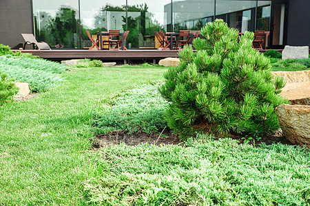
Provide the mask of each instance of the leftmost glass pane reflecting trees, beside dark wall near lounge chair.
POLYGON ((79 47, 79 2, 33 0, 34 33, 37 41, 51 47, 79 47))

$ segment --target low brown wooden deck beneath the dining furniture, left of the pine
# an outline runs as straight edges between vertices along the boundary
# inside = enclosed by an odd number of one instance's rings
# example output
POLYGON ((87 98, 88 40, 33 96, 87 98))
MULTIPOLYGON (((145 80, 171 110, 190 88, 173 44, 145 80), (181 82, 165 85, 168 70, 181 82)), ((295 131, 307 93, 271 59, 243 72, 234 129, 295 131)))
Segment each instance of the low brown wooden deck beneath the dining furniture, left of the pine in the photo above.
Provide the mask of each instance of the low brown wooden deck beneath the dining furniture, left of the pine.
POLYGON ((96 58, 103 62, 118 60, 160 60, 167 57, 178 57, 177 50, 159 51, 156 49, 136 49, 136 50, 85 50, 85 49, 52 49, 52 50, 12 50, 30 53, 40 58, 48 60, 68 60, 76 58, 96 58))

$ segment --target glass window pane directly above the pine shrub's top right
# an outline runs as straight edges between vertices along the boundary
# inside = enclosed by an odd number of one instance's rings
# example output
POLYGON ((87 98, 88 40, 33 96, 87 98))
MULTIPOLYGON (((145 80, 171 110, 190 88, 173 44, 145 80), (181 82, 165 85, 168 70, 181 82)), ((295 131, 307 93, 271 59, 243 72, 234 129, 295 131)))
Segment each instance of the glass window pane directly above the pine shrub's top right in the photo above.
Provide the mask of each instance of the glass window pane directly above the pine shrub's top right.
POLYGON ((239 32, 255 30, 256 1, 216 0, 216 18, 239 32))

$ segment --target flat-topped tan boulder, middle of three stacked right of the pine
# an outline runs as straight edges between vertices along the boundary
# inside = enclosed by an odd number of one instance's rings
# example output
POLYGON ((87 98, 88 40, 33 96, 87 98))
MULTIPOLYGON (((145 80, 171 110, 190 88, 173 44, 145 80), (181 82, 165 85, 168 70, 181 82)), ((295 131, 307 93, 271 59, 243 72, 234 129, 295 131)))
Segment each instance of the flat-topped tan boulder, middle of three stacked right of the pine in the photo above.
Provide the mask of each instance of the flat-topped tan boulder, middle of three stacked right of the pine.
POLYGON ((280 95, 288 98, 291 104, 310 105, 310 82, 289 83, 280 95))

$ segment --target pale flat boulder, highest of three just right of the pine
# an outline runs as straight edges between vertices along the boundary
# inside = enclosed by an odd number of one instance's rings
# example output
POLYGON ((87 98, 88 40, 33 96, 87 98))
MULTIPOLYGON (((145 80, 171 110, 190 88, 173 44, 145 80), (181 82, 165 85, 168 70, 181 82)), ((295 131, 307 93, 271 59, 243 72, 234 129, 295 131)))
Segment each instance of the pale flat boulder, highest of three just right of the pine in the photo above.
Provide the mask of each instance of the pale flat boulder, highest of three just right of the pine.
POLYGON ((310 82, 310 70, 303 71, 273 71, 274 76, 282 76, 285 82, 310 82))

